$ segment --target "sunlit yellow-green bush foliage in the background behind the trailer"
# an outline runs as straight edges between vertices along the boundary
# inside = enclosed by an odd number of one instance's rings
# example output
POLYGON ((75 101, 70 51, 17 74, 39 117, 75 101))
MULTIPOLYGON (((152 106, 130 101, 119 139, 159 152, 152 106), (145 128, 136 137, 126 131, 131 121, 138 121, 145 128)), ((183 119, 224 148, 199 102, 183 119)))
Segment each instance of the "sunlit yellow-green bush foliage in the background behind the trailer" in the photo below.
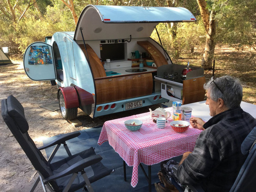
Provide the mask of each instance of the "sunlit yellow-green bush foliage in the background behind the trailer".
MULTIPOLYGON (((0 10, 0 47, 18 46, 23 52, 32 42, 44 41, 45 36, 52 36, 57 31, 75 30, 72 14, 61 0, 37 0, 39 10, 32 5, 22 18, 21 15, 27 8, 29 0, 10 0, 10 2, 12 7, 17 3, 15 6, 16 20, 6 0, 0 0, 0 6, 3 7, 2 11, 0 10)), ((73 0, 73 3, 78 16, 89 4, 167 6, 166 0, 73 0)), ((177 31, 166 23, 160 23, 157 26, 163 47, 173 60, 183 56, 191 49, 191 46, 204 47, 205 44, 204 25, 196 0, 176 0, 175 6, 189 9, 198 21, 177 23, 177 31)), ((250 46, 256 50, 255 0, 207 0, 207 9, 216 10, 215 40, 217 44, 236 44, 240 48, 250 46)), ((159 42, 155 31, 151 37, 159 42)))

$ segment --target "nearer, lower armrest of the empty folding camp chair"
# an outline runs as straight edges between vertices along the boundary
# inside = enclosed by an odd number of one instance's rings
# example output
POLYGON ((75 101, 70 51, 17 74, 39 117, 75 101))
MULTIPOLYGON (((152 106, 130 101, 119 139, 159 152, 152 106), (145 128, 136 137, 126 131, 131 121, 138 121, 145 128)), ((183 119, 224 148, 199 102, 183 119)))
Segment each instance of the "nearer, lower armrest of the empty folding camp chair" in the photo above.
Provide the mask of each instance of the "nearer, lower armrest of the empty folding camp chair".
POLYGON ((52 175, 50 177, 45 178, 44 179, 44 184, 48 183, 49 181, 64 177, 66 175, 70 175, 70 174, 73 174, 73 173, 76 173, 76 172, 80 172, 85 167, 88 167, 88 166, 91 166, 95 163, 98 163, 101 160, 102 160, 102 157, 100 155, 93 155, 91 157, 87 157, 87 158, 73 164, 72 166, 63 170, 62 172, 59 172, 55 175, 52 175))

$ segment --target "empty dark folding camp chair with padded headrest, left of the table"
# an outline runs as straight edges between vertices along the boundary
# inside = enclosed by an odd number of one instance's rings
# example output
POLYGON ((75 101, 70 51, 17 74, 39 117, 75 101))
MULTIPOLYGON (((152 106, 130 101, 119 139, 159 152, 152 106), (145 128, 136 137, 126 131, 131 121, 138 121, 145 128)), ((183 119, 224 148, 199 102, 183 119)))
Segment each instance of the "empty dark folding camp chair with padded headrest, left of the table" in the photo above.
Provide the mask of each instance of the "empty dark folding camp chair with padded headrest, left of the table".
POLYGON ((102 157, 95 154, 94 148, 92 147, 78 154, 71 154, 65 141, 78 137, 80 134, 79 131, 64 134, 51 143, 37 148, 28 134, 29 125, 25 118, 24 108, 14 96, 8 96, 7 99, 2 100, 2 116, 6 125, 39 174, 31 191, 35 190, 39 180, 41 180, 45 192, 47 191, 45 185, 52 192, 70 192, 81 188, 91 192, 93 189, 90 183, 114 171, 106 168, 100 162, 102 157), (68 157, 51 163, 53 156, 61 144, 64 145, 68 157), (54 145, 56 147, 47 161, 40 150, 54 145))

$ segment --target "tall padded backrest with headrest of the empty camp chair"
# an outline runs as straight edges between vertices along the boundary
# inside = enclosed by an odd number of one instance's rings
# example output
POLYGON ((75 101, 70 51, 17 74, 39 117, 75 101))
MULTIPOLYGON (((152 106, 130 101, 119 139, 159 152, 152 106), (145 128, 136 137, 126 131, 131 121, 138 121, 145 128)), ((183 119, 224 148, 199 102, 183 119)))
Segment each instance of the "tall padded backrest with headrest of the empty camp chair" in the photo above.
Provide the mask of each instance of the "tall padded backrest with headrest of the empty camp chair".
MULTIPOLYGON (((29 137, 29 125, 26 121, 24 108, 14 96, 8 96, 7 99, 2 100, 2 116, 6 125, 14 135, 17 142, 20 144, 23 151, 31 161, 35 169, 40 172, 44 178, 52 174, 51 169, 47 164, 47 160, 38 150, 33 140, 29 137)), ((51 183, 52 187, 57 189, 55 181, 51 183)))

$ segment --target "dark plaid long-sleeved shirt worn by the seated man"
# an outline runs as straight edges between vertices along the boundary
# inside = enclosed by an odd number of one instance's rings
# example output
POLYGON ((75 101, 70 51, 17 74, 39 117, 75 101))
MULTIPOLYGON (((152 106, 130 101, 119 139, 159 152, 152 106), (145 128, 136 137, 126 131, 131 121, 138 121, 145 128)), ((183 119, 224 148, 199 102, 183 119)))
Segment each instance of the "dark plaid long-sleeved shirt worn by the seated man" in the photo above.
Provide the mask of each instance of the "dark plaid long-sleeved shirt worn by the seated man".
POLYGON ((229 191, 246 159, 241 143, 255 126, 256 119, 241 107, 209 119, 194 151, 178 168, 180 182, 200 184, 205 191, 229 191))

